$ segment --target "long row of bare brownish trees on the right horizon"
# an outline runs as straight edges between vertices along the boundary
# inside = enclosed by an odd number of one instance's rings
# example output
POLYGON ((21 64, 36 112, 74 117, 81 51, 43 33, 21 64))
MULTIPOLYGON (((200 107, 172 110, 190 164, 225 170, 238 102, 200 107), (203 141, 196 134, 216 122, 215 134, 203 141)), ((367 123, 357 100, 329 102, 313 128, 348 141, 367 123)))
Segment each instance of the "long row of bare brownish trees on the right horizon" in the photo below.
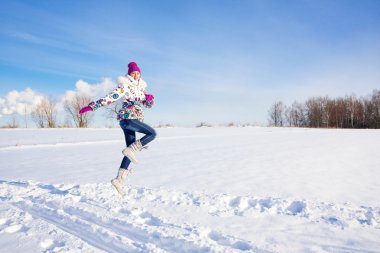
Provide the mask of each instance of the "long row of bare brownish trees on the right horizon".
POLYGON ((315 128, 380 128, 380 91, 366 98, 312 97, 287 106, 281 101, 269 109, 269 125, 315 128))

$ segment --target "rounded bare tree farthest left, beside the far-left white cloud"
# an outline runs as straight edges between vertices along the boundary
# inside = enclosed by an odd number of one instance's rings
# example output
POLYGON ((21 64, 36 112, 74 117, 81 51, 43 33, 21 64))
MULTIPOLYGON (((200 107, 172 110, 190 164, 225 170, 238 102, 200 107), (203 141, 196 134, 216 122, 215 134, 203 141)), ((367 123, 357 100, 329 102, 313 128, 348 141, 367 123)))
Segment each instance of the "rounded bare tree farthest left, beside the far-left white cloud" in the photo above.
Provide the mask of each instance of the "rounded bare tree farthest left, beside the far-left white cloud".
POLYGON ((52 99, 45 97, 32 111, 32 118, 40 128, 54 128, 57 125, 56 112, 56 103, 52 99))

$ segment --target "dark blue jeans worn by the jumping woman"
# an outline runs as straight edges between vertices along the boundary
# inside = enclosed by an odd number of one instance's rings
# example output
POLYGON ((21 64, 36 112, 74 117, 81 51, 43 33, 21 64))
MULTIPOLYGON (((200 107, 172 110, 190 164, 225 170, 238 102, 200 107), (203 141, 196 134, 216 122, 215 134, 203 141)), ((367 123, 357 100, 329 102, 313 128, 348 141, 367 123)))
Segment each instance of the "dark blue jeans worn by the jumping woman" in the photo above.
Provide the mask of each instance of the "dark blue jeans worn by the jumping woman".
MULTIPOLYGON (((120 120, 120 127, 124 132, 125 143, 127 147, 136 141, 136 132, 145 134, 140 142, 143 146, 153 141, 156 138, 156 131, 149 125, 141 122, 138 119, 123 119, 120 120)), ((121 161, 120 168, 128 169, 131 160, 124 156, 121 161)))

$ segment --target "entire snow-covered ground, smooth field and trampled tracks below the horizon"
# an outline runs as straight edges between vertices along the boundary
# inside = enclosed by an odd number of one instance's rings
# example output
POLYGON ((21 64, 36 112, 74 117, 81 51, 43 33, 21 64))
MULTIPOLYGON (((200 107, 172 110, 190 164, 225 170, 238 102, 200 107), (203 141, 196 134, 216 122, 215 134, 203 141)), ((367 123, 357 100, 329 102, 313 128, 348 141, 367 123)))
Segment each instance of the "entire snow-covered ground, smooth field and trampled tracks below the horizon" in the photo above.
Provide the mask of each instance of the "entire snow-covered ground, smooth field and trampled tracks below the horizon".
POLYGON ((0 252, 380 252, 380 131, 0 130, 0 252))

